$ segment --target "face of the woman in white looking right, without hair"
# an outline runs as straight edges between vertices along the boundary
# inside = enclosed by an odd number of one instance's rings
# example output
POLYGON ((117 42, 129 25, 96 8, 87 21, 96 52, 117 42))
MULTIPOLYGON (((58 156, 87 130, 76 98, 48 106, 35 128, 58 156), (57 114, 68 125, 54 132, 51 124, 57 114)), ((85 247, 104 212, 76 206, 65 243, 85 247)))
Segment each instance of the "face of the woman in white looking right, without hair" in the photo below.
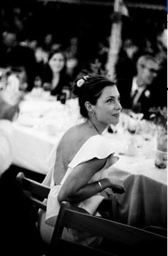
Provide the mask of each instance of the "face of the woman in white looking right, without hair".
POLYGON ((93 106, 93 110, 97 120, 103 125, 119 123, 122 106, 120 105, 120 93, 117 87, 105 87, 96 105, 93 106))

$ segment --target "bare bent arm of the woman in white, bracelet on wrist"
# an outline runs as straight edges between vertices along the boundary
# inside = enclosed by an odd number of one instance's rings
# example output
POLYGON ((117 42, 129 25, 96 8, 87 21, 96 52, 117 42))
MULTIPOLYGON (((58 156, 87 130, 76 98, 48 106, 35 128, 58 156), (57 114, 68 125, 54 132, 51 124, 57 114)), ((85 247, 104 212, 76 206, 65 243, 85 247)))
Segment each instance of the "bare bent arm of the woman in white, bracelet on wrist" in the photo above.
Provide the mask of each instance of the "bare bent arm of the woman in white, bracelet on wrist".
POLYGON ((93 158, 88 162, 77 165, 73 172, 68 175, 63 183, 60 192, 58 193, 58 201, 63 200, 70 203, 79 203, 81 200, 90 198, 91 196, 100 193, 105 188, 120 187, 123 188, 120 180, 112 180, 112 178, 103 178, 98 182, 89 183, 89 180, 105 165, 107 158, 93 158))

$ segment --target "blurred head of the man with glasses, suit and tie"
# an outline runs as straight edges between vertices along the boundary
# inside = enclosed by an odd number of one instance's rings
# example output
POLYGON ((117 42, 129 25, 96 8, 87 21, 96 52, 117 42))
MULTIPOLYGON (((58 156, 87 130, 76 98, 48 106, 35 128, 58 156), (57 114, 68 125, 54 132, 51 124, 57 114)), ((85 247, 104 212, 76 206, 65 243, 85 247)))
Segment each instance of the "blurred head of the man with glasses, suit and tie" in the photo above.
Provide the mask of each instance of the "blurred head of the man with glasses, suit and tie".
POLYGON ((149 86, 152 84, 159 71, 159 64, 151 55, 140 56, 137 60, 137 84, 149 86))

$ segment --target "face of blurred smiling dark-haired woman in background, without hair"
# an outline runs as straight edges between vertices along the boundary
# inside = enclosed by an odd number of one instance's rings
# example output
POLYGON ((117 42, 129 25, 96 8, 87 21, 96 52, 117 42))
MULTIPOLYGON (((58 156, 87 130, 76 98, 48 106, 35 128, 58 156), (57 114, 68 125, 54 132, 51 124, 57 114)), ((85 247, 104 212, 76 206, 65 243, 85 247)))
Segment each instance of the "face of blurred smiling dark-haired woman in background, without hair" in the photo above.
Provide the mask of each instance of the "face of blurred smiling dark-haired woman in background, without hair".
POLYGON ((55 53, 48 61, 49 66, 53 73, 60 73, 65 66, 65 59, 62 53, 55 53))

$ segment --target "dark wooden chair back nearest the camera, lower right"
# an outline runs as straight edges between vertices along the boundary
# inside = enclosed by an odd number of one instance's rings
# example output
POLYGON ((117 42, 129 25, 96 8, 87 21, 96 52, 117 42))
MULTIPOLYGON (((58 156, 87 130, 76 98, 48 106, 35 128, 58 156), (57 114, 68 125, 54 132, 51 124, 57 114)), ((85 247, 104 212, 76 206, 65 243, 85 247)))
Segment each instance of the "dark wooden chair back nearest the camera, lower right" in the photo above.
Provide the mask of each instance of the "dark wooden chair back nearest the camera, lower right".
MULTIPOLYGON (((59 244, 65 243, 62 238, 64 227, 103 237, 111 247, 111 255, 127 255, 127 253, 129 253, 128 255, 142 255, 142 253, 143 255, 159 255, 160 248, 162 248, 162 255, 166 256, 167 237, 89 215, 84 213, 82 209, 74 208, 67 202, 61 203, 61 209, 51 240, 51 247, 53 251, 55 248, 55 252, 59 244)), ((104 249, 106 250, 107 248, 104 249)), ((107 253, 105 250, 99 250, 102 253, 101 255, 107 253)))

